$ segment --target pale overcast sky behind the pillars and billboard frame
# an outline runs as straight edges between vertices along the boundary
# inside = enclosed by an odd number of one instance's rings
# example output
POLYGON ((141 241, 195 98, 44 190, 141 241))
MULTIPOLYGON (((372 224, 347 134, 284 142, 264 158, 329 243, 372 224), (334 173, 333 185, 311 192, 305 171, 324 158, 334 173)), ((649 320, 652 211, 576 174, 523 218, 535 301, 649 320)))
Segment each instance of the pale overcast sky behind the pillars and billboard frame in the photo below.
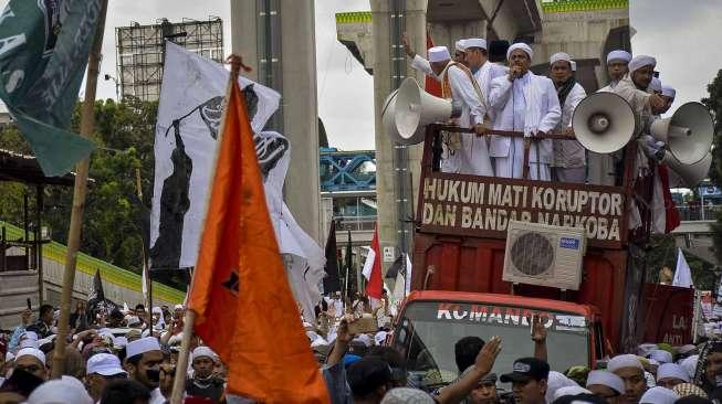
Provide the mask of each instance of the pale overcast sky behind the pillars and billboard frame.
MULTIPOLYGON (((223 19, 227 53, 230 52, 231 0, 109 0, 103 42, 101 74, 116 76, 115 26, 154 23, 160 18, 180 21, 223 19), (172 7, 169 7, 172 4, 172 7)), ((0 0, 4 8, 8 0, 0 0)), ((662 83, 677 88, 674 108, 707 95, 707 84, 722 68, 722 46, 716 45, 722 1, 694 0, 693 7, 679 0, 630 1, 635 54, 657 57, 662 83), (705 44, 710 46, 704 47, 705 44)), ((336 12, 368 10, 368 0, 316 1, 316 65, 318 68, 318 114, 326 125, 329 142, 339 149, 373 149, 374 88, 372 77, 336 41, 336 12)), ((114 98, 113 82, 98 83, 98 97, 114 98)))

